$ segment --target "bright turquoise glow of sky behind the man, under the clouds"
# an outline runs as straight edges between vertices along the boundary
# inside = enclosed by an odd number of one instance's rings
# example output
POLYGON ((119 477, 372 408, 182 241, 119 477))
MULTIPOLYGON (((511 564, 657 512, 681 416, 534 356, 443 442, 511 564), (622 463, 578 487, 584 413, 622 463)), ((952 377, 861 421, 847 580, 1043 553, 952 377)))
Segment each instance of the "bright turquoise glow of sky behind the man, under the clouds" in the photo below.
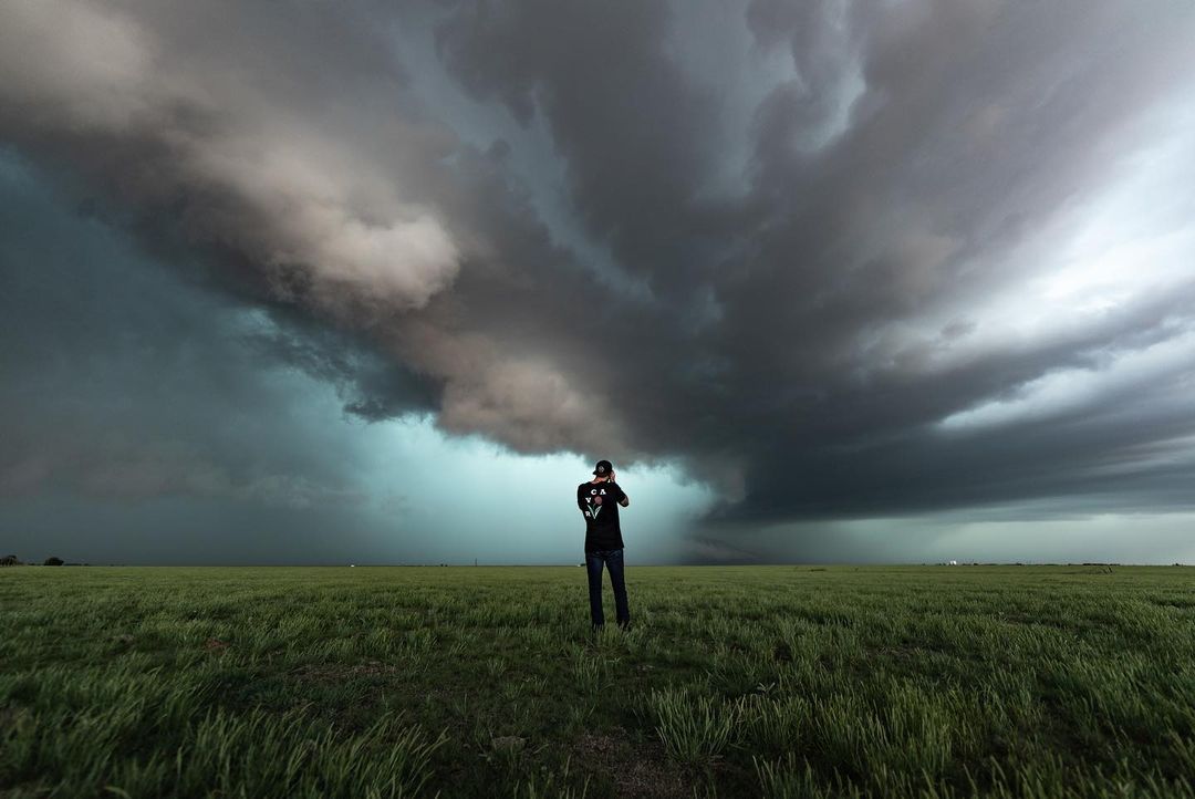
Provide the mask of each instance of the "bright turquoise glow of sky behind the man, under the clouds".
MULTIPOLYGON (((583 560, 578 483, 593 463, 574 454, 517 455, 476 437, 446 437, 430 417, 373 423, 362 479, 379 552, 402 554, 419 540, 421 561, 552 564, 583 560), (430 533, 430 535, 429 535, 430 533)), ((631 498, 621 511, 629 563, 668 563, 693 554, 690 524, 713 502, 670 466, 614 465, 631 498)), ((416 557, 416 555, 412 555, 416 557)))

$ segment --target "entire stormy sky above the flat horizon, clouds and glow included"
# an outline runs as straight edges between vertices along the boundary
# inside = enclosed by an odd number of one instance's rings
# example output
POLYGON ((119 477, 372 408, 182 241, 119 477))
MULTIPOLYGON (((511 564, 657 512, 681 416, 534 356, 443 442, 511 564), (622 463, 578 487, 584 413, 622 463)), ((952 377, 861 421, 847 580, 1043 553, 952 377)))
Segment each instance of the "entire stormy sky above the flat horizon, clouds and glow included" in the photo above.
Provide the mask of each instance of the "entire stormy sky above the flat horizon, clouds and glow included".
POLYGON ((0 5, 0 551, 1195 563, 1195 5, 0 5))

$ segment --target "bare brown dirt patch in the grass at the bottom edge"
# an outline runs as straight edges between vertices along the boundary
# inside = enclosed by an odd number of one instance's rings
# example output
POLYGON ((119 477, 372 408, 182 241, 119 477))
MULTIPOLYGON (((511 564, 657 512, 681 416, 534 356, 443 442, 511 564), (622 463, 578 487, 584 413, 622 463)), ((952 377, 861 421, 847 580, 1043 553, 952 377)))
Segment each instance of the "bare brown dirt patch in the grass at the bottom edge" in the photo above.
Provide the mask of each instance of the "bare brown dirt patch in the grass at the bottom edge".
POLYGON ((606 774, 626 799, 691 797, 693 775, 668 760, 660 742, 638 742, 621 727, 584 732, 574 742, 574 762, 606 774))

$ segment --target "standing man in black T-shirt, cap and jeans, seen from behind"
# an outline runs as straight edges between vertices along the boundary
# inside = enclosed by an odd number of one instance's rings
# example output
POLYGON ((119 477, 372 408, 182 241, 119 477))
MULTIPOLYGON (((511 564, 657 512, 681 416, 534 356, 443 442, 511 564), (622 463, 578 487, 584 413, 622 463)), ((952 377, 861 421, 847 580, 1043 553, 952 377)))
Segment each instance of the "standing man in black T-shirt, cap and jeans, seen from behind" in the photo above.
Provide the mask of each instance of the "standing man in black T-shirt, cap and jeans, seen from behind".
POLYGON ((623 580, 623 529, 618 524, 618 506, 631 504, 626 493, 614 483, 614 467, 609 461, 598 461, 594 479, 577 486, 577 508, 586 517, 586 572, 589 576, 589 615, 594 629, 606 623, 601 609, 601 570, 609 570, 614 588, 614 608, 618 626, 626 629, 631 611, 626 606, 626 583, 623 580))

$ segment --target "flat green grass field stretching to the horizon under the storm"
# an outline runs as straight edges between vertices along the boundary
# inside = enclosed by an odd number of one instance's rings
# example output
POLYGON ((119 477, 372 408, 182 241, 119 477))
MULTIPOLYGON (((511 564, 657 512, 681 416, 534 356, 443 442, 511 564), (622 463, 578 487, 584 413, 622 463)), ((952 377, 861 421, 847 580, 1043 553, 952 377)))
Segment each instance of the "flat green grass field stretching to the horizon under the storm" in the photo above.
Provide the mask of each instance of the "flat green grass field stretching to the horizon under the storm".
POLYGON ((0 794, 1195 793, 1193 568, 627 588, 595 637, 576 567, 0 570, 0 794))

